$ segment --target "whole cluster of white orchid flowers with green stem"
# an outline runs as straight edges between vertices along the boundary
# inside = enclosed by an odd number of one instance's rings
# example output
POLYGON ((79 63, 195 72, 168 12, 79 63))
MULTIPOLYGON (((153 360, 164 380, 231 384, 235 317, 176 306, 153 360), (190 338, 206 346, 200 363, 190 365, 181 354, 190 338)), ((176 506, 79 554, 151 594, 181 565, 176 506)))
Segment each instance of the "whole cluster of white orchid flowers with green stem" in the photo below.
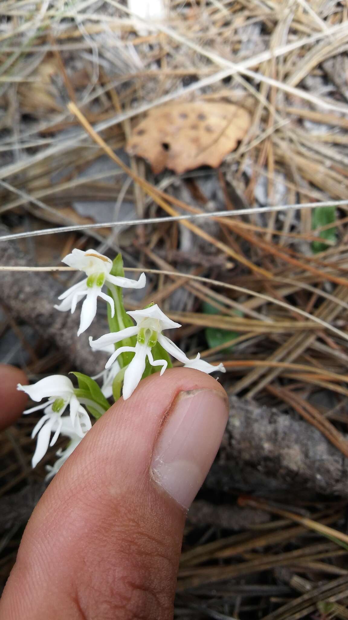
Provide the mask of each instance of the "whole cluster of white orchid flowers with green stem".
POLYGON ((110 353, 105 370, 95 377, 82 373, 76 376, 78 387, 71 379, 60 374, 45 377, 30 386, 18 385, 17 389, 26 392, 32 401, 40 404, 25 410, 25 414, 43 409, 43 417, 35 425, 32 437, 37 436, 37 446, 32 458, 35 467, 45 456, 48 446, 53 446, 59 435, 69 438, 66 449, 59 449, 58 460, 53 467, 46 466, 48 476, 54 476, 72 451, 79 445, 92 427, 92 418, 100 418, 110 407, 111 397, 116 402, 133 394, 139 381, 152 373, 162 375, 172 367, 171 357, 183 363, 186 368, 196 368, 204 373, 225 372, 222 364, 213 366, 198 353, 194 360, 163 335, 163 330, 181 327, 169 319, 164 312, 151 303, 142 310, 126 312, 123 305, 124 288, 144 288, 145 273, 139 280, 124 277, 123 260, 119 254, 114 261, 99 254, 96 250, 74 249, 64 257, 69 267, 85 273, 85 278, 71 286, 61 296, 61 303, 54 308, 61 312, 75 312, 77 304, 85 298, 80 311, 80 325, 77 335, 83 334, 92 324, 97 314, 97 299, 107 302, 110 333, 97 340, 89 339, 94 350, 110 353), (103 292, 103 287, 107 292, 103 292), (134 324, 135 323, 135 324, 134 324), (99 386, 97 379, 102 380, 99 386), (41 402, 43 399, 48 399, 41 402), (63 415, 69 407, 69 415, 63 415), (52 438, 51 438, 51 435, 52 438))

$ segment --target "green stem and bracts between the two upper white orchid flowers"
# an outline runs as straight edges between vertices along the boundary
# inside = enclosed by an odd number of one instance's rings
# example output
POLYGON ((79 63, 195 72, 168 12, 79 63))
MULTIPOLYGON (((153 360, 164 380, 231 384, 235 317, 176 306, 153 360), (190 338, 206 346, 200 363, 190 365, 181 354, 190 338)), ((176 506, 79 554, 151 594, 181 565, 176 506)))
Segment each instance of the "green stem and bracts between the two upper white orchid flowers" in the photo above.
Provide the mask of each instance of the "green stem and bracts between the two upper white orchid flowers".
MULTIPOLYGON (((110 273, 111 275, 124 277, 123 259, 121 254, 118 254, 113 261, 113 266, 110 273)), ((109 284, 108 294, 113 298, 115 303, 115 315, 113 317, 111 317, 111 308, 110 304, 108 304, 108 322, 110 332, 119 332, 121 329, 125 329, 126 327, 133 327, 133 320, 126 313, 123 305, 123 291, 121 286, 109 284)), ((115 344, 115 350, 120 347, 135 347, 135 345, 136 337, 133 336, 117 342, 115 344)), ((128 366, 129 362, 133 360, 133 357, 134 353, 121 353, 121 355, 118 356, 118 363, 120 364, 120 367, 124 368, 124 366, 128 366)))

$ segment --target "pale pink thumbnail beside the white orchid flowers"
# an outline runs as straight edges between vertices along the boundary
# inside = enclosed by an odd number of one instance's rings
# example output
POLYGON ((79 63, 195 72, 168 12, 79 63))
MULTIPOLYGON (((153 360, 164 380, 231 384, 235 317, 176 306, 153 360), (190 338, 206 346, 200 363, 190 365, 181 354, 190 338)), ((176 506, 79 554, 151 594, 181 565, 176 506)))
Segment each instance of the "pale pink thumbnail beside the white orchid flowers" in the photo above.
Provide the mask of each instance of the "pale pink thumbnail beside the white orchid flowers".
POLYGON ((224 394, 181 392, 155 443, 152 474, 169 495, 189 508, 219 449, 228 418, 224 394))

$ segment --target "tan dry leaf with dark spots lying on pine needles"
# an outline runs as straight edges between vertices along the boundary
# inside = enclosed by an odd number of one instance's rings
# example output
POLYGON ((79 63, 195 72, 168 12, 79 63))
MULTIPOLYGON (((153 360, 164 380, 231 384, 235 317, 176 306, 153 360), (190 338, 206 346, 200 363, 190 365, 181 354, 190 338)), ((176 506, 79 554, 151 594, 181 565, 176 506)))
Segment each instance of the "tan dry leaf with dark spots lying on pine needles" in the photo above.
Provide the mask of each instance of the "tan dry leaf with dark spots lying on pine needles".
POLYGON ((127 152, 147 159, 156 174, 177 174, 220 165, 250 127, 250 114, 238 105, 211 102, 162 105, 137 125, 127 152))

